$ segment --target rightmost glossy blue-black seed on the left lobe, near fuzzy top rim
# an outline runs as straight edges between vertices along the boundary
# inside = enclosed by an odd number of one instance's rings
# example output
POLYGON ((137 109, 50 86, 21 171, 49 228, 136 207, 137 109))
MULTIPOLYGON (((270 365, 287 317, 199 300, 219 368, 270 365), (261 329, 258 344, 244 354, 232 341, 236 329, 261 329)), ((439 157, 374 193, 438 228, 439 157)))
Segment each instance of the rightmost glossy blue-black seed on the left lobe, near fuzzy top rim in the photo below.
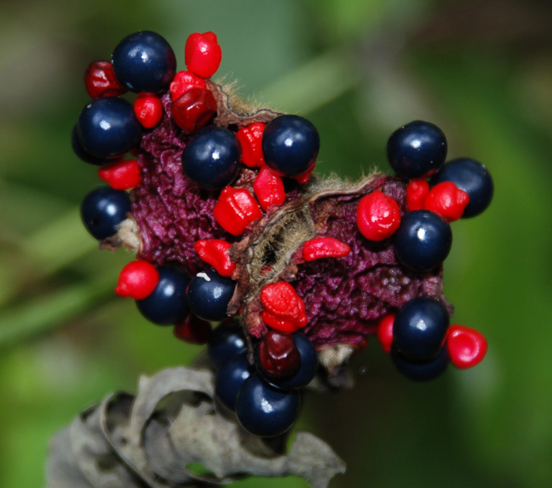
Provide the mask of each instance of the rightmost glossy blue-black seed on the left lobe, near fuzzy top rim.
POLYGON ((266 124, 262 149, 266 165, 283 176, 297 176, 316 162, 318 131, 298 115, 280 115, 266 124))

